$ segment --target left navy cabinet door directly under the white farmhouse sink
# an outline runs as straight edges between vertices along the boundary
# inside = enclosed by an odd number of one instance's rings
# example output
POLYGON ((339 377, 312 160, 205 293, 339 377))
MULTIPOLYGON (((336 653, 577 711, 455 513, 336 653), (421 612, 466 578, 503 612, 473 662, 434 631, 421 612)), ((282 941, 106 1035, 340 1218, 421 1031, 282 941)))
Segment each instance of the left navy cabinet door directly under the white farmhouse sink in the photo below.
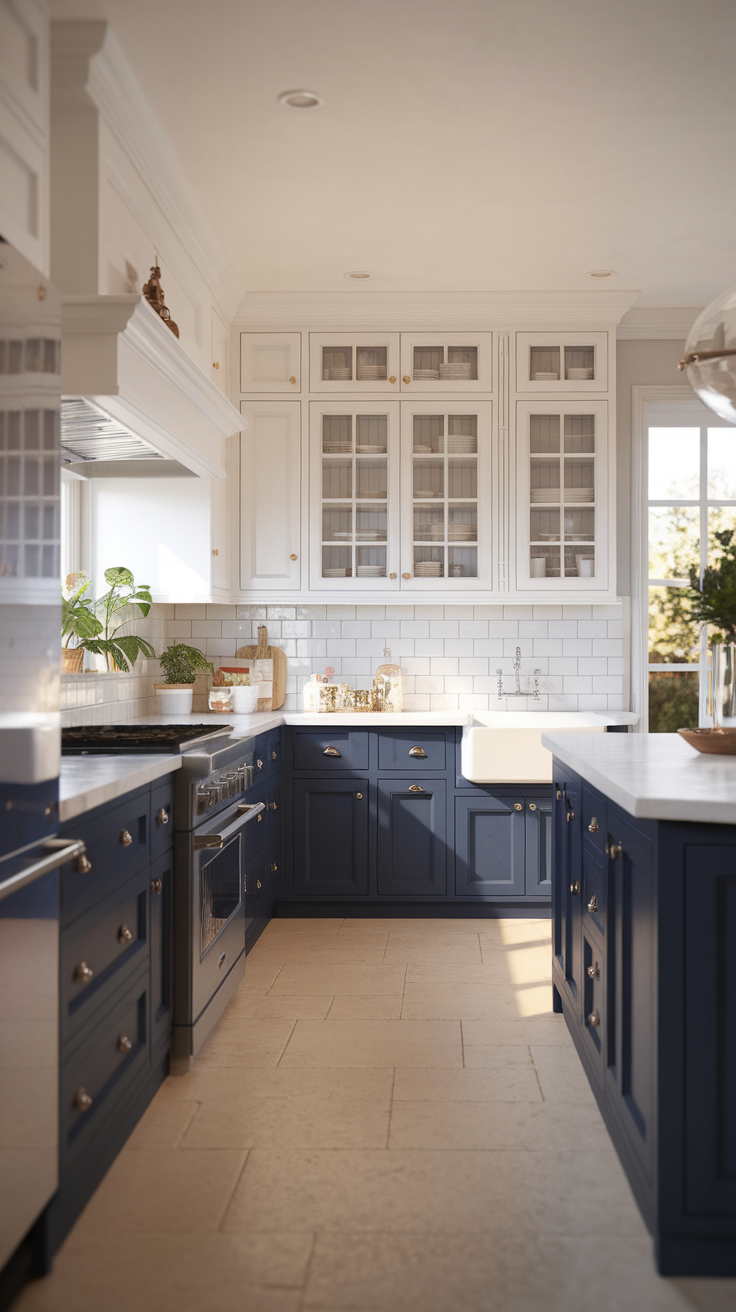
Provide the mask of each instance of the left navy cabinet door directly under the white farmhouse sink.
POLYGON ((455 798, 458 897, 523 897, 525 828, 523 798, 455 798))

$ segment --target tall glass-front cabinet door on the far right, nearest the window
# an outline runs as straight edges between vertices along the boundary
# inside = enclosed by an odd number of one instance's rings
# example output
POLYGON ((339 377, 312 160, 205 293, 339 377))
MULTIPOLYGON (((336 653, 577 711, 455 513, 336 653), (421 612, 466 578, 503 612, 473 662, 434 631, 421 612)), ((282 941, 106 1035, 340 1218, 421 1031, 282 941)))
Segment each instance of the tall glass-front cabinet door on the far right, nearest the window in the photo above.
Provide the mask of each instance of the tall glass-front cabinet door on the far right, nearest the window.
POLYGON ((605 401, 517 407, 517 586, 609 586, 605 401))

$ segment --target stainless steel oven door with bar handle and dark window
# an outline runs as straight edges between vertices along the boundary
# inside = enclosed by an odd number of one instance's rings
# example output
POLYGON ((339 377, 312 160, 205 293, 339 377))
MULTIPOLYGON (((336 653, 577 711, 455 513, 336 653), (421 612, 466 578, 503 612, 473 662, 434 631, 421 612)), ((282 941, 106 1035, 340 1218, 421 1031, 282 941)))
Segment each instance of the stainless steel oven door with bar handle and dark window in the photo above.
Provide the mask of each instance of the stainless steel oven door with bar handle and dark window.
POLYGON ((239 802, 192 836, 192 1023, 245 951, 245 844, 264 803, 239 802))

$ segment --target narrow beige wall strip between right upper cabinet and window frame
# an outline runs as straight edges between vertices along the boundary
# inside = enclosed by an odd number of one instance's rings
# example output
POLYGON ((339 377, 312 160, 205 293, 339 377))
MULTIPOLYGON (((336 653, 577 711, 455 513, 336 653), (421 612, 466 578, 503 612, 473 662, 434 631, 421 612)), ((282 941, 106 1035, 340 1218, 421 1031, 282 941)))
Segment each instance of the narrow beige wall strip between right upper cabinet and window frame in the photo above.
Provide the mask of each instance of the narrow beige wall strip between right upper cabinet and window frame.
POLYGON ((631 388, 682 387, 677 362, 685 341, 619 341, 617 344, 617 590, 631 594, 631 388))

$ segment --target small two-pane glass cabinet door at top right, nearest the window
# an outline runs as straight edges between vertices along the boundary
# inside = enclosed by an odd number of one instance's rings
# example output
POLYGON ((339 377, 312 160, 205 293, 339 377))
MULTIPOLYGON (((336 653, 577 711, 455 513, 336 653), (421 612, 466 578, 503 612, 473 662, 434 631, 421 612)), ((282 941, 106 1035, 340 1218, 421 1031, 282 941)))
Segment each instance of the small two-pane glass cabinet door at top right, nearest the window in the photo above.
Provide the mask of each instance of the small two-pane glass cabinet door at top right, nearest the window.
POLYGON ((605 392, 607 332, 517 332, 517 392, 605 392))

